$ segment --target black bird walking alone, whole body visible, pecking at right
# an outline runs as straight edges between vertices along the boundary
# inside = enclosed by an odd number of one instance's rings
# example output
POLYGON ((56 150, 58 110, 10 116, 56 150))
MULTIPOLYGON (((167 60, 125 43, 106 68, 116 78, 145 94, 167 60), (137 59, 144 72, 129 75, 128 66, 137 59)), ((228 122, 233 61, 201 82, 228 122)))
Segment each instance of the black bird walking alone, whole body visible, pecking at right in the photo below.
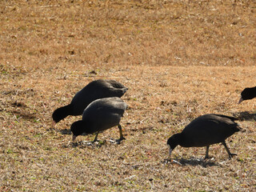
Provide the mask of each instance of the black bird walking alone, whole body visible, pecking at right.
POLYGON ((229 154, 229 158, 232 158, 232 156, 236 154, 230 153, 225 140, 235 132, 242 130, 238 124, 234 122, 235 120, 238 119, 222 114, 205 114, 195 118, 182 130, 182 133, 174 134, 168 139, 167 145, 169 147, 169 154, 171 154, 172 150, 178 145, 183 147, 206 146, 205 158, 209 158, 209 146, 214 143, 222 142, 229 154))

